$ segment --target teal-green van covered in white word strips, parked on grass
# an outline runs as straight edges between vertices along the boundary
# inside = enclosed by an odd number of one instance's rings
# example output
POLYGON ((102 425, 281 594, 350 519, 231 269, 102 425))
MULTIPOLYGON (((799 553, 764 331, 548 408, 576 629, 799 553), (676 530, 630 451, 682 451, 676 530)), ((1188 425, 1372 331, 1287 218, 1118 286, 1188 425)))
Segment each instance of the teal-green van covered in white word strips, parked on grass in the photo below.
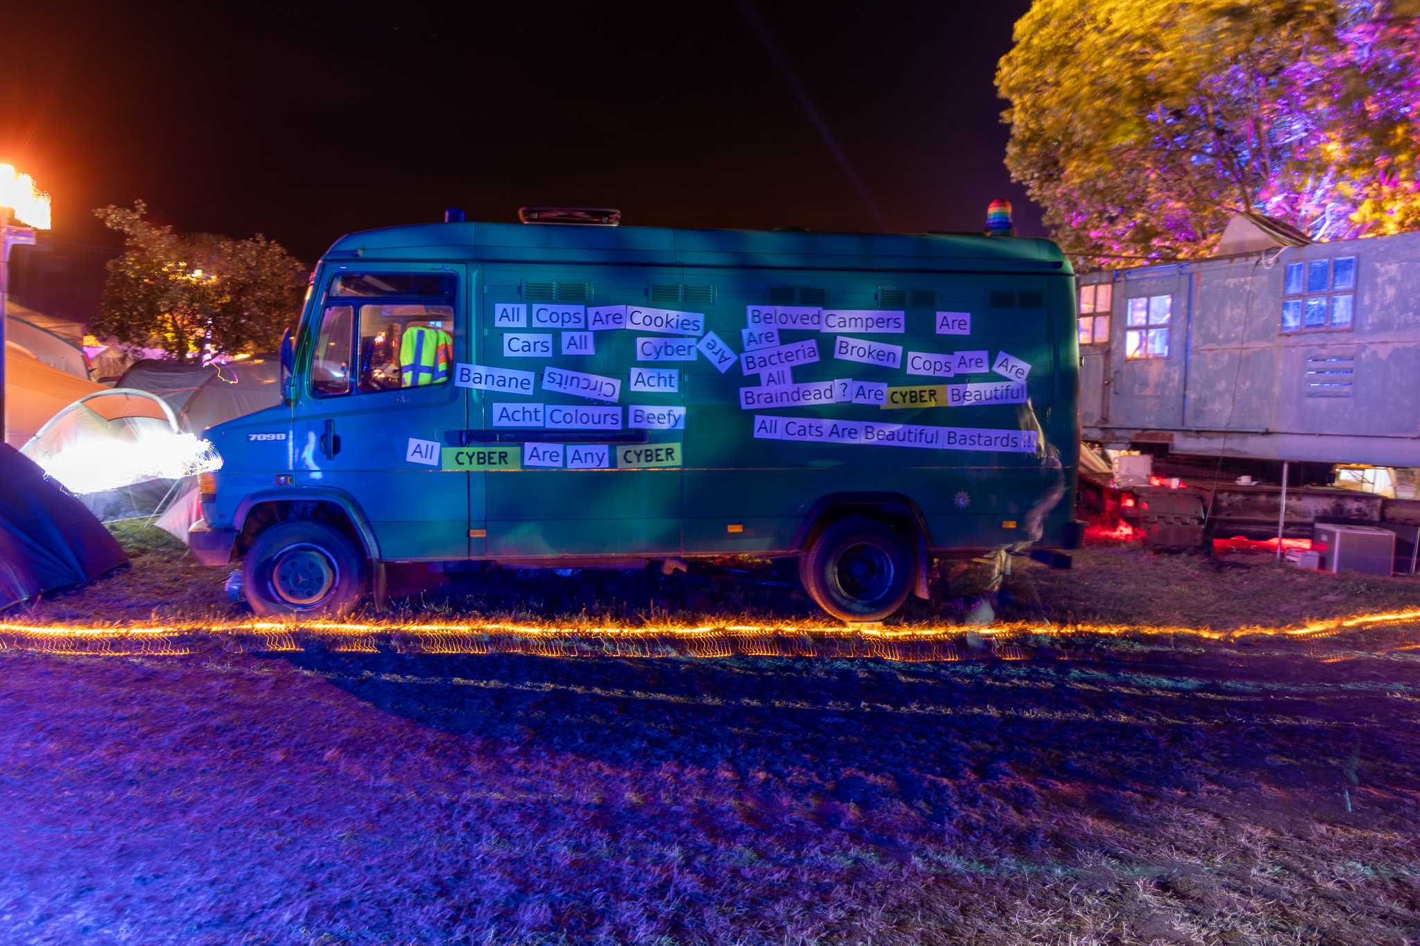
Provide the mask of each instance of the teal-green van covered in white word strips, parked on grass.
POLYGON ((379 600, 396 562, 750 555, 875 621, 934 559, 1076 545, 1074 328, 1047 240, 356 233, 312 275, 284 406, 207 430, 190 546, 243 559, 267 616, 379 600))

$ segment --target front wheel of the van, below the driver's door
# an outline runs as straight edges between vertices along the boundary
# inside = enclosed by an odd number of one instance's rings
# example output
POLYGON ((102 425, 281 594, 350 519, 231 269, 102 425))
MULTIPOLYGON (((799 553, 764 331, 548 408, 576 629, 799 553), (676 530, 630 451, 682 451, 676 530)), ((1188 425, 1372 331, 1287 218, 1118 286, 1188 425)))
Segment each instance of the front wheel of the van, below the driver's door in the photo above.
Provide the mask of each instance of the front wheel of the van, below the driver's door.
POLYGON ((241 587, 263 617, 339 617, 365 594, 365 555, 320 519, 287 519, 257 536, 241 563, 241 587))

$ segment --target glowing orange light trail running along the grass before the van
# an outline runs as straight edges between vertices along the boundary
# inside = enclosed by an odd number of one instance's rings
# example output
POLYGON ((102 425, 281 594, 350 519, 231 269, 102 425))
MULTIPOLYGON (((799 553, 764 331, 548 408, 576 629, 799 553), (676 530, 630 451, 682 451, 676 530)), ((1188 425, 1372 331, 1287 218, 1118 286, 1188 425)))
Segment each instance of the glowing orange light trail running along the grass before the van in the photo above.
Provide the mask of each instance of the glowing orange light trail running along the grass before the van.
POLYGON ((0 624, 0 650, 71 655, 182 655, 280 652, 320 647, 341 652, 537 654, 544 657, 839 657, 920 662, 963 660, 971 651, 1024 660, 1030 638, 1135 637, 1234 641, 1244 637, 1325 638, 1366 627, 1420 624, 1420 610, 1329 618, 1301 627, 1242 627, 1227 631, 1130 624, 1011 623, 885 627, 812 624, 726 624, 598 627, 513 623, 342 623, 197 621, 135 627, 0 624), (976 638, 976 640, 973 640, 976 638))

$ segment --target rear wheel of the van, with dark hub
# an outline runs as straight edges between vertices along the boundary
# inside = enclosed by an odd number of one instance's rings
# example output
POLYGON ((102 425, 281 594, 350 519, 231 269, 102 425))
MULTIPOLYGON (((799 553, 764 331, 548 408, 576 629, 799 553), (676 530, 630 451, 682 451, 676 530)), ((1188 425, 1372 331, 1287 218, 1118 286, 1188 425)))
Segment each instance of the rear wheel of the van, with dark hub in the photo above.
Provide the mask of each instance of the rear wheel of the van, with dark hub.
POLYGON ((912 591, 906 540, 863 516, 835 522, 799 557, 799 581, 819 607, 845 621, 880 621, 912 591))

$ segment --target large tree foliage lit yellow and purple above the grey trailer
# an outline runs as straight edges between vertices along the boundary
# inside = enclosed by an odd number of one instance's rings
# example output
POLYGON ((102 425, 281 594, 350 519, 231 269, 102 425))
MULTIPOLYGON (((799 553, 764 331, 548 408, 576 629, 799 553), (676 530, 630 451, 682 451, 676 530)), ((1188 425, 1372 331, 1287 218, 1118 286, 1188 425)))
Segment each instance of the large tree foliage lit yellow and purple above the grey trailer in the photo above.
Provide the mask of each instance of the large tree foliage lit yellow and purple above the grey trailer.
POLYGON ((1235 211, 1420 228, 1420 0, 1035 0, 1007 166, 1093 265, 1208 255, 1235 211))

